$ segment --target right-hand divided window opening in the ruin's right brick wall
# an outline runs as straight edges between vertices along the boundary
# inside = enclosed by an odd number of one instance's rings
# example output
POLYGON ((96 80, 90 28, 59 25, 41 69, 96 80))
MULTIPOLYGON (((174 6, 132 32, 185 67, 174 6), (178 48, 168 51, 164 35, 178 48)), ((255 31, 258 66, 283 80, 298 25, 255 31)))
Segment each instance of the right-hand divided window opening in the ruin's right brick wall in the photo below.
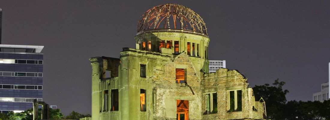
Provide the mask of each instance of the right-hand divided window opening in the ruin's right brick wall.
POLYGON ((242 111, 242 90, 229 91, 228 112, 242 111))

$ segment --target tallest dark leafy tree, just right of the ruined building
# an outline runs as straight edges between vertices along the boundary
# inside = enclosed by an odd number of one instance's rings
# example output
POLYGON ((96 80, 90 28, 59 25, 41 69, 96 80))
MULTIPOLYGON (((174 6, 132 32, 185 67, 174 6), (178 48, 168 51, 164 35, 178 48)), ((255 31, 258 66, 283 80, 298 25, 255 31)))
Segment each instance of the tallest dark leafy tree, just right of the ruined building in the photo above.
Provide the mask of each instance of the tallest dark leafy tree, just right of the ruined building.
POLYGON ((279 79, 276 79, 273 83, 274 86, 270 86, 269 84, 264 85, 255 85, 253 89, 253 93, 256 101, 262 97, 266 102, 267 109, 267 118, 278 120, 284 119, 281 111, 284 110, 284 106, 286 104, 285 95, 289 93, 288 90, 282 89, 285 82, 279 82, 279 79))

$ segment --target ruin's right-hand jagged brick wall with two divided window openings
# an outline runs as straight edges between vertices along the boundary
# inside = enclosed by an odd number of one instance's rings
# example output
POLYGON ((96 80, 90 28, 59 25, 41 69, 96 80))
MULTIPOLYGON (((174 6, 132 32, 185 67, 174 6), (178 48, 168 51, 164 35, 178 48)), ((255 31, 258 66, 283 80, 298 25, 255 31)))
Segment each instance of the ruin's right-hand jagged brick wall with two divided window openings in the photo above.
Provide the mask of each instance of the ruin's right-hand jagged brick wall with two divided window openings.
MULTIPOLYGON (((202 93, 217 93, 217 113, 204 114, 203 119, 263 119, 263 107, 260 102, 255 101, 252 88, 248 87, 247 78, 236 70, 221 68, 216 73, 205 74, 201 81, 202 93), (230 92, 242 91, 241 96, 230 99, 230 92), (241 99, 241 104, 237 101, 241 99), (235 102, 231 104, 230 102, 235 102), (241 109, 231 110, 231 105, 241 105, 241 109), (261 105, 260 105, 261 104, 261 105), (253 106, 255 109, 253 109, 253 106)), ((205 96, 205 95, 203 95, 205 96)), ((202 105, 205 105, 205 97, 202 97, 202 105)), ((235 105, 235 106, 238 106, 235 105)), ((239 106, 238 106, 239 107, 239 106)), ((205 111, 206 107, 202 108, 205 111)))

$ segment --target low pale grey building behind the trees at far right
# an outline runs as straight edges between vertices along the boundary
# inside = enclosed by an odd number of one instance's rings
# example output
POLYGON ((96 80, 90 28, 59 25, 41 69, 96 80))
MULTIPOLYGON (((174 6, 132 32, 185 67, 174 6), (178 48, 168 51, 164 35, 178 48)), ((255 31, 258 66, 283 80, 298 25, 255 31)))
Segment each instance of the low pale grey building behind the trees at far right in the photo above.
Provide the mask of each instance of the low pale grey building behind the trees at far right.
POLYGON ((321 84, 321 91, 313 93, 313 101, 323 102, 324 100, 329 100, 329 82, 321 84))

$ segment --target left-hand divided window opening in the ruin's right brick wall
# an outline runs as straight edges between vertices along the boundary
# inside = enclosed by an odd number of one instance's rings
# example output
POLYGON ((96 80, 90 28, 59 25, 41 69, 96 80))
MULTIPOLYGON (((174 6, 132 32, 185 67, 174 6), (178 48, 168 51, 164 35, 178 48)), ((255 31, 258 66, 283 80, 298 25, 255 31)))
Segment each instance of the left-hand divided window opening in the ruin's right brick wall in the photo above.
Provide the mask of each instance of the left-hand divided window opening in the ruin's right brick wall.
POLYGON ((217 113, 217 94, 207 93, 205 94, 205 112, 204 114, 217 113))

